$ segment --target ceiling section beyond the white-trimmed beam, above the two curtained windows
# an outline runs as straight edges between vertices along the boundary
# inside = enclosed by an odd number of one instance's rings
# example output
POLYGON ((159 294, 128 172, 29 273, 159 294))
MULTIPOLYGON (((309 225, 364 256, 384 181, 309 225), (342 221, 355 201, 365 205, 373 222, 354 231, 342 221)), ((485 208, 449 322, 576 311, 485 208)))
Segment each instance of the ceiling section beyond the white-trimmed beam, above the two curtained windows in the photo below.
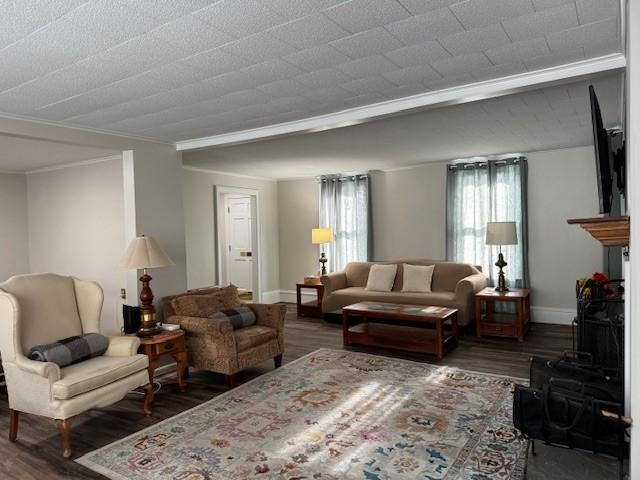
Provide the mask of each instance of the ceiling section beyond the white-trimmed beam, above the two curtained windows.
POLYGON ((620 125, 621 76, 609 75, 325 132, 183 152, 183 162, 283 179, 589 145, 589 83, 605 126, 620 125))

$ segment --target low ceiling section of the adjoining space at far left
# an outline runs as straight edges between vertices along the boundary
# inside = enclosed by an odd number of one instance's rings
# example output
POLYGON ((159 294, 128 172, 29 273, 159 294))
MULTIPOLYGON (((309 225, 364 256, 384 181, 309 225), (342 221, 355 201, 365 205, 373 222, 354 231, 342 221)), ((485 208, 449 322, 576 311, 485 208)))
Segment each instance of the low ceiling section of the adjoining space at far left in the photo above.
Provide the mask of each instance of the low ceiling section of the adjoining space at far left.
POLYGON ((0 172, 31 172, 121 153, 104 148, 0 135, 0 172))

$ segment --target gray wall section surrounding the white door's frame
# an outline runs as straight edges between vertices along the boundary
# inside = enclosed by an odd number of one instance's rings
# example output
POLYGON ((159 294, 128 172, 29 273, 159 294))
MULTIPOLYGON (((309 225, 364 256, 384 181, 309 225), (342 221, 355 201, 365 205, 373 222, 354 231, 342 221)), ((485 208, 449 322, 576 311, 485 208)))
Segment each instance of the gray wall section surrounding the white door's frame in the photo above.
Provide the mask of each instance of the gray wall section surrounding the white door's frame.
POLYGON ((262 290, 263 293, 279 290, 277 183, 184 169, 184 229, 188 287, 198 288, 216 284, 214 185, 248 188, 260 192, 262 290))

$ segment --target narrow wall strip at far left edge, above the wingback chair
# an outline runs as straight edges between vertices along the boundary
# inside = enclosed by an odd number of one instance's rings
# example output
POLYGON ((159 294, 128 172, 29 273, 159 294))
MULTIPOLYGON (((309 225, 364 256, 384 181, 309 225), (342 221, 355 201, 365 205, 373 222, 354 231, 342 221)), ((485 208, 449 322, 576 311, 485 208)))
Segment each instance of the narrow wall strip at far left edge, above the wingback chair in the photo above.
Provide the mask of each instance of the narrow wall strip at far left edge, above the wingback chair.
POLYGON ((27 178, 0 174, 0 282, 29 272, 27 178))

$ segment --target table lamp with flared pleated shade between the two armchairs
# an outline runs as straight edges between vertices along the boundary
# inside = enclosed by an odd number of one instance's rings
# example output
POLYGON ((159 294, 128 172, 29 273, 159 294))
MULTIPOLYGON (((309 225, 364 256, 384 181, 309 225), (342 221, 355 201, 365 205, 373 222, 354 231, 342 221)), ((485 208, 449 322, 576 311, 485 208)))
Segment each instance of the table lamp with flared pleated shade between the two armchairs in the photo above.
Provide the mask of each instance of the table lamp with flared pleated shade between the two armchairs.
POLYGON ((153 292, 149 283, 151 276, 147 274, 148 268, 168 267, 175 265, 153 237, 140 237, 131 240, 127 251, 118 265, 127 270, 142 269, 142 290, 140 291, 140 330, 137 335, 149 337, 160 331, 156 325, 156 310, 153 307, 153 292))

